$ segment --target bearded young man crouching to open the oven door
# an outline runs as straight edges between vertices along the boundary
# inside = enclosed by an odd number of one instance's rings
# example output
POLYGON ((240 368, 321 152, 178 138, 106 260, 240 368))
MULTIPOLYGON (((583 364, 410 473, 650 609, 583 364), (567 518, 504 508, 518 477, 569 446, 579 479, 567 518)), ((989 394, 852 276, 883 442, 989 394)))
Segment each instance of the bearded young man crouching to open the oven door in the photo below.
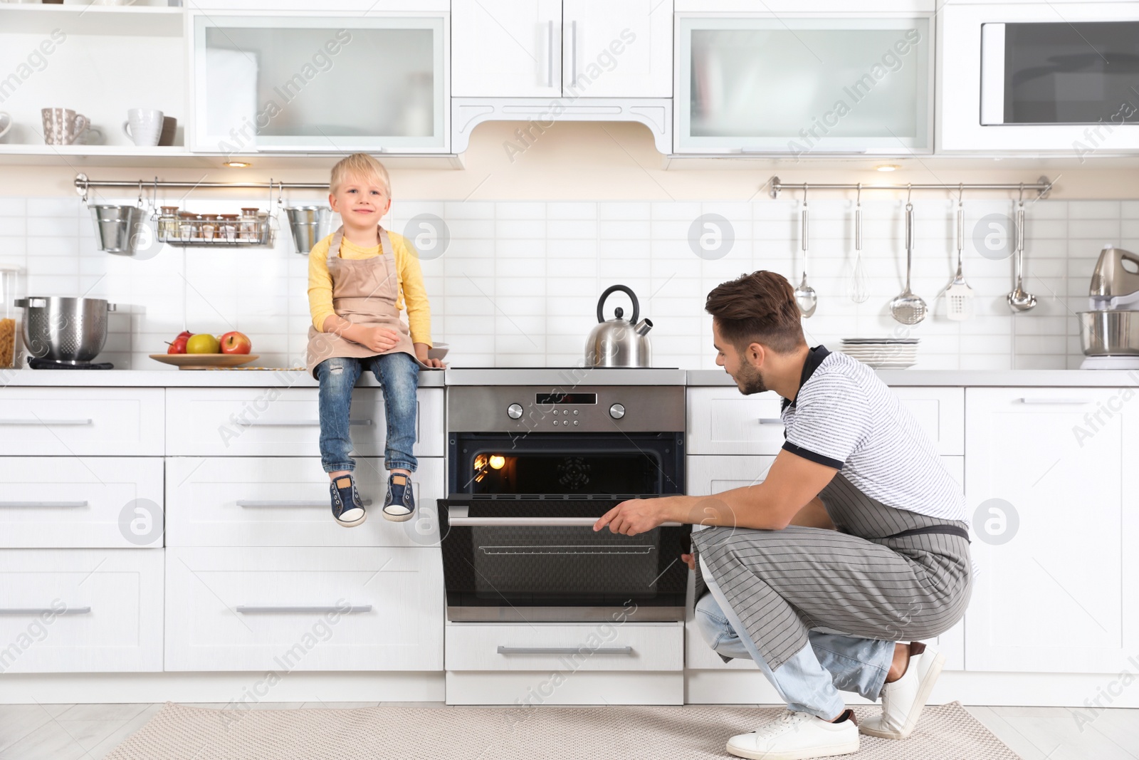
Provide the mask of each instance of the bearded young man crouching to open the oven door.
POLYGON ((724 283, 705 308, 716 363, 740 392, 784 398, 782 451, 762 483, 624 501, 595 530, 708 526, 686 555, 702 634, 726 660, 751 656, 787 702, 778 720, 731 737, 729 752, 823 758, 857 752, 860 730, 904 738, 944 656, 895 641, 943 634, 969 600, 961 489, 872 369, 808 348, 782 276, 724 283), (858 726, 839 689, 880 695, 882 716, 858 726))

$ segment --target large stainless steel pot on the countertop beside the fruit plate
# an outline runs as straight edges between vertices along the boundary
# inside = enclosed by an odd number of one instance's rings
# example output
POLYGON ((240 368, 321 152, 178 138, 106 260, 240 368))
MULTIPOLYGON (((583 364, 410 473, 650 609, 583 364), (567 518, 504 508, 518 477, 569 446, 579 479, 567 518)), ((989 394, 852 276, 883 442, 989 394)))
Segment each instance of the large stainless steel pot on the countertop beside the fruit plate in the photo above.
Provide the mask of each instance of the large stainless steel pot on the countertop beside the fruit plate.
POLYGON ((87 363, 107 342, 107 312, 115 304, 103 299, 30 296, 16 301, 24 309, 24 345, 36 359, 87 363))

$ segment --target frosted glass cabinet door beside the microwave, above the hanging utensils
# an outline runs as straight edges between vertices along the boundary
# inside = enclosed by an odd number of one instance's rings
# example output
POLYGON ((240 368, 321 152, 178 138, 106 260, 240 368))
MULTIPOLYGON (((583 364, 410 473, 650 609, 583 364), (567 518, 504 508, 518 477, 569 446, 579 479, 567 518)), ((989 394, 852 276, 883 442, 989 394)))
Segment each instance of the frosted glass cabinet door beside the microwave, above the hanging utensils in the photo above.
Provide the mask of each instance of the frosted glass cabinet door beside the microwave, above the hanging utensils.
POLYGON ((678 153, 929 153, 929 18, 677 18, 678 153))

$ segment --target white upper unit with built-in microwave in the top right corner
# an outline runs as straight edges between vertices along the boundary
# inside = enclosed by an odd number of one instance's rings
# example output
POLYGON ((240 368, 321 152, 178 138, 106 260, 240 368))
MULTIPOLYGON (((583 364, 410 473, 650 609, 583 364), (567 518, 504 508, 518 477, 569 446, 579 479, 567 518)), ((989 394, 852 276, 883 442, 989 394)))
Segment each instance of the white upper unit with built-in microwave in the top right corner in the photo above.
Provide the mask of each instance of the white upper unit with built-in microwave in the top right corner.
POLYGON ((1139 2, 950 5, 944 150, 1139 149, 1139 2))

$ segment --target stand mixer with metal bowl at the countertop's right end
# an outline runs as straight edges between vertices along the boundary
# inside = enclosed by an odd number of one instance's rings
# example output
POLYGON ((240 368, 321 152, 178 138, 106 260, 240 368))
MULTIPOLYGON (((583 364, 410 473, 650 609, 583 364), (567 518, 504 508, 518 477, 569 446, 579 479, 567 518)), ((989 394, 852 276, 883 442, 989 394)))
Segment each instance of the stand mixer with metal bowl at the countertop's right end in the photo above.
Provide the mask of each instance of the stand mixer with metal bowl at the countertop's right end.
POLYGON ((1139 368, 1139 255, 1105 246, 1081 311, 1081 369, 1139 368))

